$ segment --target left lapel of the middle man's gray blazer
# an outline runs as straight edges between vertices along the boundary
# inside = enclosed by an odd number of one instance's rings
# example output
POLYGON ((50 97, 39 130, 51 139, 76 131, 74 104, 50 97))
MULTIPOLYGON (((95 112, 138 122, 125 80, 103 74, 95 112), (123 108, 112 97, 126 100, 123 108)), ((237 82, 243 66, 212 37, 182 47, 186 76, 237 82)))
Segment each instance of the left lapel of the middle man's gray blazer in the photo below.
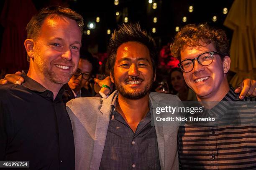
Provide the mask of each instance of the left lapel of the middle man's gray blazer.
POLYGON ((108 124, 110 120, 111 103, 115 92, 112 93, 107 99, 102 99, 102 107, 97 113, 97 123, 95 129, 95 141, 92 153, 92 160, 90 170, 98 170, 100 168, 100 161, 105 146, 105 140, 108 132, 108 124))

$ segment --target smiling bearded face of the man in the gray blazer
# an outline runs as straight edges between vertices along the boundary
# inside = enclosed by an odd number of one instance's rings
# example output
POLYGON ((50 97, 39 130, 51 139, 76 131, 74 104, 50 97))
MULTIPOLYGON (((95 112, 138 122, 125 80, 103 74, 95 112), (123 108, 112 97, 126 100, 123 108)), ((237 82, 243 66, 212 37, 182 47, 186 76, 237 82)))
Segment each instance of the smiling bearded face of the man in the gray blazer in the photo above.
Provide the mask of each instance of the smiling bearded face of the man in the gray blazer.
POLYGON ((137 100, 146 96, 155 80, 148 48, 135 41, 118 47, 111 80, 123 97, 137 100))

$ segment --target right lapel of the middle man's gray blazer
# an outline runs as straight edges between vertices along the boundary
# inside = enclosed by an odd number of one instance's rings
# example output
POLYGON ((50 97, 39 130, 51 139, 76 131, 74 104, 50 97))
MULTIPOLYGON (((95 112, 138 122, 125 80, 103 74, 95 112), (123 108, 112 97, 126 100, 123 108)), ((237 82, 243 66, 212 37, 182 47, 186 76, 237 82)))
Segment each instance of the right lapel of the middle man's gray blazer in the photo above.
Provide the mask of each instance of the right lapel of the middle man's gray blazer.
POLYGON ((160 160, 160 165, 161 165, 161 170, 164 170, 164 156, 165 156, 165 136, 164 136, 164 129, 163 129, 163 124, 162 121, 156 121, 156 107, 159 107, 159 103, 156 102, 151 96, 150 96, 151 104, 153 106, 153 117, 154 117, 154 125, 156 128, 156 137, 157 137, 157 145, 158 145, 158 150, 159 150, 159 160, 160 160))

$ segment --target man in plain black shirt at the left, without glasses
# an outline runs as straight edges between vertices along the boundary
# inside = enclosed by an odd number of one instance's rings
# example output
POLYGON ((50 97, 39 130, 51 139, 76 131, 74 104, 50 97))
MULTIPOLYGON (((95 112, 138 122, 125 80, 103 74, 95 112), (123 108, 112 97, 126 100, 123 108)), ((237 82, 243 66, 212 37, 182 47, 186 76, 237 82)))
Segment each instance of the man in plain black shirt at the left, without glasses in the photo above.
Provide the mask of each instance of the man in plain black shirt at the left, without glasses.
POLYGON ((61 100, 77 70, 83 18, 65 7, 40 10, 28 23, 22 85, 0 86, 0 160, 31 170, 74 170, 72 125, 61 100))

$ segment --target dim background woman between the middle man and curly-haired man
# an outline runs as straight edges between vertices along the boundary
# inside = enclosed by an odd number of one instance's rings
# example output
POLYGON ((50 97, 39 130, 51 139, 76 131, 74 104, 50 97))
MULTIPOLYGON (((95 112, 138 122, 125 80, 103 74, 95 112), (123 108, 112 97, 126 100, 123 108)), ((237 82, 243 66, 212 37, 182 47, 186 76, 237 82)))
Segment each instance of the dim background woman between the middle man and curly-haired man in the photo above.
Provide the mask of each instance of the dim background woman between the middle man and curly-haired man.
POLYGON ((171 80, 172 87, 177 92, 176 95, 179 97, 180 100, 186 100, 186 101, 197 100, 195 92, 193 92, 193 90, 191 90, 187 86, 180 68, 177 68, 177 67, 173 68, 171 70, 170 75, 171 75, 170 80, 171 80))

